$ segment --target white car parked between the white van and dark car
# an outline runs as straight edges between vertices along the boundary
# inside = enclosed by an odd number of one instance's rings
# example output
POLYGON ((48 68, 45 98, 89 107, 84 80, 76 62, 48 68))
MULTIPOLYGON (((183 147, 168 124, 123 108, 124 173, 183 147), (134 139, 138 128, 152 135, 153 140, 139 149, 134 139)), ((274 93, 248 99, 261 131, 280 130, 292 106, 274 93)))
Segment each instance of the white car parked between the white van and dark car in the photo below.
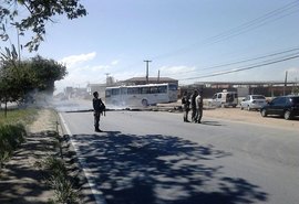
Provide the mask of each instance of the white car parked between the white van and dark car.
POLYGON ((266 104, 267 104, 267 100, 266 100, 265 96, 262 96, 262 95, 248 95, 241 100, 240 109, 243 110, 246 108, 247 110, 251 110, 251 109, 259 110, 266 104))

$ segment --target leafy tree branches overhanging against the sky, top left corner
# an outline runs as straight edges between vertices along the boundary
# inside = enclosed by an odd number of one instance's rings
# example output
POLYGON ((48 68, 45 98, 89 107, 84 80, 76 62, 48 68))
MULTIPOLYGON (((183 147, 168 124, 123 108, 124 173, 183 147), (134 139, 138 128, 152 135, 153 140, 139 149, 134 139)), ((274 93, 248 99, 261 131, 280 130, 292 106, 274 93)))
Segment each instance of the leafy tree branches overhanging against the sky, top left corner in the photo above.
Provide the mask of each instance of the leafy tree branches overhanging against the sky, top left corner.
POLYGON ((19 35, 31 31, 33 35, 24 46, 30 52, 37 51, 45 35, 45 24, 49 21, 55 22, 55 15, 66 15, 72 20, 87 14, 79 2, 80 0, 1 0, 0 37, 3 41, 9 40, 7 28, 11 25, 16 26, 19 35))

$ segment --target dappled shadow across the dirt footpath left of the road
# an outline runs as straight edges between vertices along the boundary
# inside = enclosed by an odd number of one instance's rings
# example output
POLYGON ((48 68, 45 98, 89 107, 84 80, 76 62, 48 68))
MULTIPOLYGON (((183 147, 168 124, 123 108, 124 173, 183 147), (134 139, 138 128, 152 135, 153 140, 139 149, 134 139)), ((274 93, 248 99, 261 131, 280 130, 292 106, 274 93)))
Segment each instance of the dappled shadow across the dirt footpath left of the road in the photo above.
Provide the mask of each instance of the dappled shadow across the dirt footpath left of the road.
POLYGON ((41 158, 55 152, 54 132, 42 131, 27 136, 3 170, 0 170, 0 203, 41 204, 52 196, 42 170, 34 167, 41 158))

